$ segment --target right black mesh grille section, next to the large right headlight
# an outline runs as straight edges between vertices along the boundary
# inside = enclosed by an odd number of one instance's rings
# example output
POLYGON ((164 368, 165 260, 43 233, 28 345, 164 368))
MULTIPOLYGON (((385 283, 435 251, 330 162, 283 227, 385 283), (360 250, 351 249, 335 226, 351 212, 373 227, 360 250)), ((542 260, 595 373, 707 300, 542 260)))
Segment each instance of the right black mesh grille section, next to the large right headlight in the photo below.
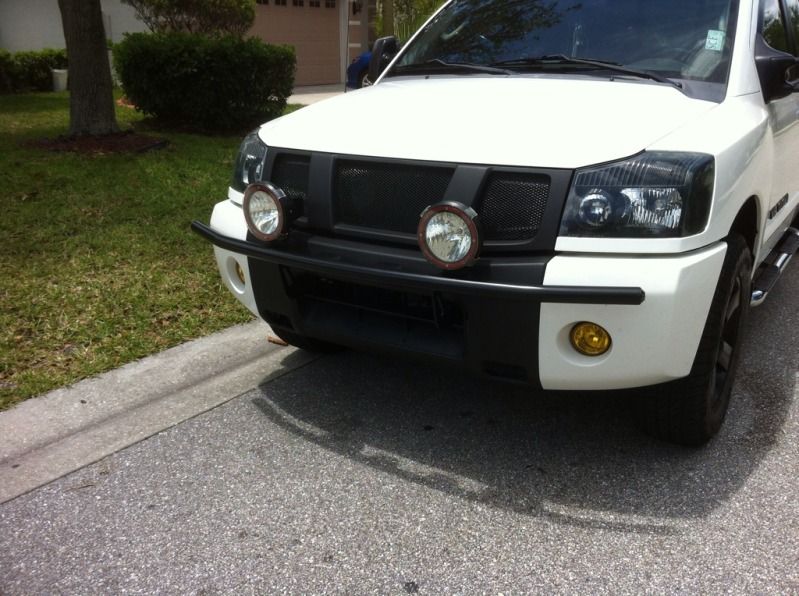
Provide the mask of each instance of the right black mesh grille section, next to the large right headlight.
POLYGON ((527 240, 541 227, 549 198, 549 178, 494 172, 477 209, 487 240, 527 240))

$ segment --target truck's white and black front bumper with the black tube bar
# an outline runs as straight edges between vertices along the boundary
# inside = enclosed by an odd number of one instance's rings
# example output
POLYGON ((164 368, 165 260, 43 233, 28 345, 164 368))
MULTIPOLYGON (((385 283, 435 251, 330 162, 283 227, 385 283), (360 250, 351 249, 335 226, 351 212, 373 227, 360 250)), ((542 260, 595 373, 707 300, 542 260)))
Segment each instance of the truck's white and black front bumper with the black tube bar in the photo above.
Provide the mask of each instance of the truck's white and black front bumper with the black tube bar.
POLYGON ((234 295, 273 327, 545 389, 618 389, 687 375, 726 248, 658 258, 503 256, 451 274, 412 249, 303 232, 267 246, 248 238, 230 201, 216 206, 210 227, 192 228, 214 243, 234 295), (585 320, 611 333, 604 356, 569 345, 569 330, 585 320))

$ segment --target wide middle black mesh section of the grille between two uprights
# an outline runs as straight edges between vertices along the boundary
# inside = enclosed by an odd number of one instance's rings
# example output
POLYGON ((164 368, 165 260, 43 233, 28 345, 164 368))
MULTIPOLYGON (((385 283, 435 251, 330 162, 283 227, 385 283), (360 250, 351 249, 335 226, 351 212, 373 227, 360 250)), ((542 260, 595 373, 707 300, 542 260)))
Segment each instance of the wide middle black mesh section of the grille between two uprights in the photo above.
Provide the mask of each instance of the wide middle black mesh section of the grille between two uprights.
POLYGON ((340 160, 333 200, 339 223, 415 234, 419 216, 444 198, 452 168, 340 160))

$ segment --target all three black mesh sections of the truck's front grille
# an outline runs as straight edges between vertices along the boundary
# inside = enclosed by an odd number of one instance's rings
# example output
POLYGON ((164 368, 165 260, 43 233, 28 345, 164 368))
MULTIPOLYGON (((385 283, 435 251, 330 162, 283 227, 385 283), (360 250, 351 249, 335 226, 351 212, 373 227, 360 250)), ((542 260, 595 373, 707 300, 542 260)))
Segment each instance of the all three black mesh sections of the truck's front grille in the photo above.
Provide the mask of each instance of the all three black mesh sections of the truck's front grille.
MULTIPOLYGON (((490 166, 483 169, 480 188, 473 177, 475 187, 471 192, 472 207, 480 215, 485 241, 507 243, 507 250, 538 242, 551 192, 554 188, 560 193, 563 186, 558 173, 553 176, 551 170, 490 166)), ((375 161, 281 151, 272 162, 269 180, 290 198, 308 204, 316 202, 315 210, 306 210, 307 220, 302 220, 302 226, 329 230, 333 224, 338 226, 338 234, 375 234, 385 238, 386 234, 414 236, 422 211, 444 200, 455 173, 456 166, 446 163, 375 161), (331 180, 327 187, 316 181, 315 194, 309 197, 312 159, 320 162, 314 166, 315 171, 329 172, 331 180), (328 210, 328 205, 332 209, 328 210), (357 230, 348 230, 347 226, 357 230)), ((469 191, 459 188, 459 193, 468 195, 469 191)))

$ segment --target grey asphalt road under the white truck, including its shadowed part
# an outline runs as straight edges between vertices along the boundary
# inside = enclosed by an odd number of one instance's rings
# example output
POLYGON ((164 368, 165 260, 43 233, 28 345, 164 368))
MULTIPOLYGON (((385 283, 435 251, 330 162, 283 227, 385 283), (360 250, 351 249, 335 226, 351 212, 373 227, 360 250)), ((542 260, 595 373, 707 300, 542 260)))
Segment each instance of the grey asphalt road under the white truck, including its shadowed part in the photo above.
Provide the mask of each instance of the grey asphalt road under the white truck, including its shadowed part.
POLYGON ((345 352, 0 506, 0 593, 799 594, 797 295, 705 449, 345 352))

